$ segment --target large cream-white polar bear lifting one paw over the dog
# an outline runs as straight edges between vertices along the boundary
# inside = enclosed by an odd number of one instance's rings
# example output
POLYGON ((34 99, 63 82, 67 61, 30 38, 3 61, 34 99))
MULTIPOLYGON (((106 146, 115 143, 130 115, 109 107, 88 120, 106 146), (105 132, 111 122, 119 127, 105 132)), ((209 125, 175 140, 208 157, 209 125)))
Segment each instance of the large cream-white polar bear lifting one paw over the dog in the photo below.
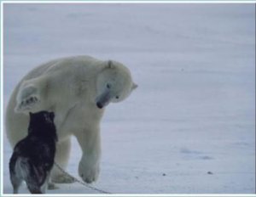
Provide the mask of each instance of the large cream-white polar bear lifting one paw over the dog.
MULTIPOLYGON (((100 170, 100 122, 105 107, 127 98, 137 85, 125 65, 90 56, 55 59, 30 71, 15 87, 6 110, 6 133, 12 147, 26 137, 29 112, 55 113, 58 134, 55 161, 64 169, 70 154, 71 136, 82 149, 79 176, 96 181, 100 170)), ((57 168, 55 183, 71 183, 57 168)))

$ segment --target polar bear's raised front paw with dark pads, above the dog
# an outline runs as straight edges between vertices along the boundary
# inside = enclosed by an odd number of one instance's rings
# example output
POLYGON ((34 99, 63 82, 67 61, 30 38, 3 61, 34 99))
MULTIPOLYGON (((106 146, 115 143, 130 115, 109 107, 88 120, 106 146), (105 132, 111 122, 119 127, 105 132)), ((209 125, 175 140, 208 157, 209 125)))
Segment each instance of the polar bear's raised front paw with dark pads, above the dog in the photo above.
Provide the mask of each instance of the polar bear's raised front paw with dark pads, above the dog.
POLYGON ((17 97, 17 105, 15 110, 17 112, 31 110, 34 105, 40 102, 36 92, 36 87, 32 86, 25 87, 23 90, 21 90, 17 97))

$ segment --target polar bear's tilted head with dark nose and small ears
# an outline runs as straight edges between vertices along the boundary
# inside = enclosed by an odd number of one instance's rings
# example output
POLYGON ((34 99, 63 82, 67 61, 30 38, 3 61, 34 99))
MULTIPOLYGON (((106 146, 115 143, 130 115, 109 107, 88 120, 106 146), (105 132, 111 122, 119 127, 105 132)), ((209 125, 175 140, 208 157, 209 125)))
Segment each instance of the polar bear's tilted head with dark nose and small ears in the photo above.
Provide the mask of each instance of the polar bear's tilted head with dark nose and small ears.
POLYGON ((96 106, 102 109, 109 103, 123 101, 136 87, 125 65, 108 60, 96 80, 96 106))

